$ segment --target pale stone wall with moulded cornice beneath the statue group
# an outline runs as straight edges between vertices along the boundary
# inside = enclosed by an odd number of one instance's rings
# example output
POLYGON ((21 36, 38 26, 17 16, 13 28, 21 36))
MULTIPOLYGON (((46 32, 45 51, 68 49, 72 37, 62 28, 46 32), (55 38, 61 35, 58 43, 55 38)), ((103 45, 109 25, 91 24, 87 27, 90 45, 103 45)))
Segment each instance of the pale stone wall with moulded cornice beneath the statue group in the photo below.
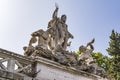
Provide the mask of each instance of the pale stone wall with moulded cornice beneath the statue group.
POLYGON ((78 71, 75 68, 63 66, 41 57, 36 61, 36 69, 40 71, 36 76, 37 80, 105 80, 99 76, 78 71))

